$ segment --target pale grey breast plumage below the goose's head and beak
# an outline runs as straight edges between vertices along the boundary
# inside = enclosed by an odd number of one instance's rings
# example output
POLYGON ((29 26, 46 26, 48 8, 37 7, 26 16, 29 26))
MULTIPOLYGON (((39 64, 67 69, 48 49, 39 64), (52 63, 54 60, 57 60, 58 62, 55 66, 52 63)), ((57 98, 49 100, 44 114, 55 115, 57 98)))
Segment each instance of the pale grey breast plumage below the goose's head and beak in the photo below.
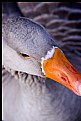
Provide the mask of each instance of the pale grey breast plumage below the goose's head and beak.
POLYGON ((64 86, 49 79, 23 73, 20 74, 19 81, 8 72, 3 75, 5 121, 80 119, 81 99, 64 86))

